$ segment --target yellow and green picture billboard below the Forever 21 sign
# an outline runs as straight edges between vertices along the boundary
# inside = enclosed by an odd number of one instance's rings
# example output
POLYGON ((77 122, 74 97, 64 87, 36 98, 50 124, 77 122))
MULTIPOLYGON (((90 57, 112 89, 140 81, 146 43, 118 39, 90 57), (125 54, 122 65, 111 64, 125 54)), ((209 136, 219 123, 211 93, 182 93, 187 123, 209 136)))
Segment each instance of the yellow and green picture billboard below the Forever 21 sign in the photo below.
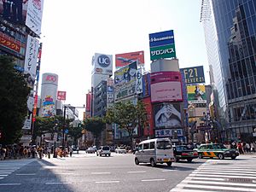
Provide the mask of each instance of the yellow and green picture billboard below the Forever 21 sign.
POLYGON ((206 87, 205 85, 189 85, 187 86, 189 103, 206 103, 206 87))

